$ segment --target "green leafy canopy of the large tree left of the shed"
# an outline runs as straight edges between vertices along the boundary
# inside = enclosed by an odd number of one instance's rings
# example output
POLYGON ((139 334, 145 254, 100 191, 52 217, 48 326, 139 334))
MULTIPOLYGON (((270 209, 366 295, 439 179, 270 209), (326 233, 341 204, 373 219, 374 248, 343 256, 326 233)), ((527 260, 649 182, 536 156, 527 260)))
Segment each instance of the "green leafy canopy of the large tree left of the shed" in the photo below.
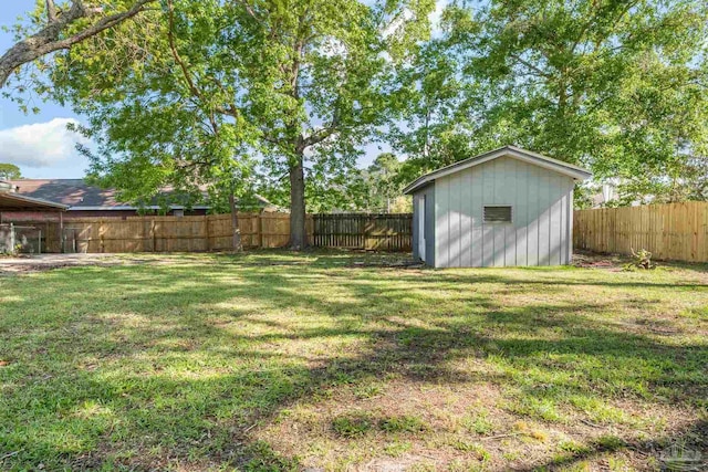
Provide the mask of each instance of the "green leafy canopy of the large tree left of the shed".
POLYGON ((226 179, 284 199, 304 166, 322 207, 315 189, 389 119, 393 62, 425 39, 433 3, 170 0, 56 56, 52 93, 88 119, 92 174, 127 197, 226 179))

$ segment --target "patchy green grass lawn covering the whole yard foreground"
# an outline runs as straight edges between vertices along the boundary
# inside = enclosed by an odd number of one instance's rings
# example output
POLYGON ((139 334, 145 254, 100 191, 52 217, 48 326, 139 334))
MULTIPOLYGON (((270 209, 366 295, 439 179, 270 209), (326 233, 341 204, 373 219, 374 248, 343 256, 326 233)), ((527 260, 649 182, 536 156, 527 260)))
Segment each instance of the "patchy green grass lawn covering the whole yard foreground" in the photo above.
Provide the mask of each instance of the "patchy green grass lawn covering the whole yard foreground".
POLYGON ((145 255, 0 276, 0 469, 660 470, 673 443, 708 457, 706 266, 382 260, 145 255))

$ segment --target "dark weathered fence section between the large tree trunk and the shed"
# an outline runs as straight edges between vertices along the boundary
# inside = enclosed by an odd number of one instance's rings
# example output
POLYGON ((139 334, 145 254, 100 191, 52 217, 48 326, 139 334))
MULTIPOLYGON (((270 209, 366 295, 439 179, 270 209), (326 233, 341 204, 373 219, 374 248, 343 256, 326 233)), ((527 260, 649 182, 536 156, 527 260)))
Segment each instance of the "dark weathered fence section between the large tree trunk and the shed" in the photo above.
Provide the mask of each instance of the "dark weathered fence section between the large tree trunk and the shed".
POLYGON ((410 251, 413 214, 410 213, 335 213, 313 214, 312 245, 374 251, 410 251))

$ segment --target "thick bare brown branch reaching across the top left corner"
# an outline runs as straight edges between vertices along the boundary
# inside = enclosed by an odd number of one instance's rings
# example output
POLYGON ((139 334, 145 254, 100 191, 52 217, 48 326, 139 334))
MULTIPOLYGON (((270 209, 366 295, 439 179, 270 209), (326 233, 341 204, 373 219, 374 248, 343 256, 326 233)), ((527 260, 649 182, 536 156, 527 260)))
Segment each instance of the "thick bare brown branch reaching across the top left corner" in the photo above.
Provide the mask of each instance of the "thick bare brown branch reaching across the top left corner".
POLYGON ((69 49, 81 41, 113 28, 144 11, 148 3, 157 1, 135 0, 135 4, 129 10, 102 18, 79 33, 62 39, 62 33, 69 27, 81 19, 101 13, 101 9, 87 8, 82 0, 73 0, 69 11, 60 12, 54 0, 46 0, 46 24, 37 33, 14 44, 0 57, 0 88, 7 84, 10 75, 18 67, 52 52, 69 49))

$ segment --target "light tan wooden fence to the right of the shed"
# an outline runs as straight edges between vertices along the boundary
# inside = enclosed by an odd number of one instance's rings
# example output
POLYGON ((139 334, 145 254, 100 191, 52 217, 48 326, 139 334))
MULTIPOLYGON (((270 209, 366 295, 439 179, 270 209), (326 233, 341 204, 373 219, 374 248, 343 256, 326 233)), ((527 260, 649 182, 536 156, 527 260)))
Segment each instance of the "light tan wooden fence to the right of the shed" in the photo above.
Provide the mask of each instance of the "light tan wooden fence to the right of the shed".
POLYGON ((631 254, 646 249, 656 259, 708 262, 708 202, 577 210, 573 245, 631 254))

